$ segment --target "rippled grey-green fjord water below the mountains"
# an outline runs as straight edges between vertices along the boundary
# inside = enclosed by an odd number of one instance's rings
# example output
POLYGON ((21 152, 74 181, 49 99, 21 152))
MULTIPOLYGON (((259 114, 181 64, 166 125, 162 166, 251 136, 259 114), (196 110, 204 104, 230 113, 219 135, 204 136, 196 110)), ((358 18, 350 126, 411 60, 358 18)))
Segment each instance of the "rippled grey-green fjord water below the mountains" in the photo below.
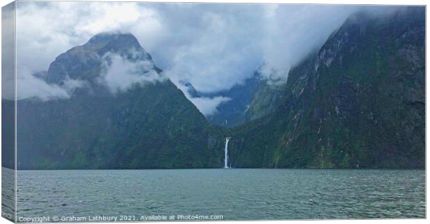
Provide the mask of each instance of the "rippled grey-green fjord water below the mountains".
POLYGON ((17 180, 18 217, 182 214, 243 220, 425 216, 424 170, 57 170, 18 171, 17 180))

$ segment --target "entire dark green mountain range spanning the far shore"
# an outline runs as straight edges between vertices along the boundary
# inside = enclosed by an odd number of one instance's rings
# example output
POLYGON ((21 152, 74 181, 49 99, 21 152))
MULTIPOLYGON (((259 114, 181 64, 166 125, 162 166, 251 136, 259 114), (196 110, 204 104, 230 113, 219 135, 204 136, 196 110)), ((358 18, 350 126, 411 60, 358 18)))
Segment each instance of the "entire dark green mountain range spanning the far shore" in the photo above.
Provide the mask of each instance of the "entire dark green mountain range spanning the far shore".
MULTIPOLYGON (((268 84, 258 71, 219 93, 183 83, 192 97, 232 99, 205 118, 135 37, 101 33, 35 74, 69 98, 17 102, 17 166, 223 167, 228 136, 232 167, 422 169, 424 37, 422 7, 386 17, 357 13, 284 84, 268 84), (131 85, 110 84, 118 78, 110 75, 129 72, 117 62, 136 67, 131 85)), ((2 162, 9 164, 4 154, 2 162)))

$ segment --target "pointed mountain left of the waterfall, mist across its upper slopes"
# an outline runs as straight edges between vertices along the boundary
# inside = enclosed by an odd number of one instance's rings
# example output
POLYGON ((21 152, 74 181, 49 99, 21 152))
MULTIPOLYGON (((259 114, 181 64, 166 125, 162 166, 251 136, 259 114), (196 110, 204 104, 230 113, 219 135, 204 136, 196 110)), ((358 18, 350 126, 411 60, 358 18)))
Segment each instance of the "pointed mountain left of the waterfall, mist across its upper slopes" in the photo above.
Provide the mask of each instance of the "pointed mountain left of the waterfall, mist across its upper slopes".
POLYGON ((96 35, 38 77, 70 97, 17 102, 19 169, 222 167, 222 130, 130 34, 96 35))

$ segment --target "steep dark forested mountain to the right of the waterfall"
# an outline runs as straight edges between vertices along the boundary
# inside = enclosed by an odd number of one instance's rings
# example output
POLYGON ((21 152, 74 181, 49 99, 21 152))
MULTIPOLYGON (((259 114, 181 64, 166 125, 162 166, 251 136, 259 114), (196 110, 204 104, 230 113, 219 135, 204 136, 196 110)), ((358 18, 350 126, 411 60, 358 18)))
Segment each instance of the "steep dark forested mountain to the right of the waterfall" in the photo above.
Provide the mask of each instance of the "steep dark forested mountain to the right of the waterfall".
POLYGON ((425 9, 359 12, 291 69, 274 113, 232 129, 233 167, 425 167, 425 9))

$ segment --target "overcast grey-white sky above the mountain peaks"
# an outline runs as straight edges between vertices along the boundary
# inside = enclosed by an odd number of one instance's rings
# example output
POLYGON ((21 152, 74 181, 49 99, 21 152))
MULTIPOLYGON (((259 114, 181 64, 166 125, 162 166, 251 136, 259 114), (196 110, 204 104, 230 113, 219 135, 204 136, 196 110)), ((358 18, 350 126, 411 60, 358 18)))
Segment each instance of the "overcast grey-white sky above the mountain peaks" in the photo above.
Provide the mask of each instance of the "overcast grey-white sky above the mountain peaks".
POLYGON ((262 64, 264 71, 276 71, 265 77, 285 80, 291 66, 356 10, 331 5, 19 1, 18 76, 25 82, 31 79, 28 74, 46 71, 56 56, 98 32, 119 31, 135 35, 171 80, 187 80, 201 92, 241 84, 262 64))

